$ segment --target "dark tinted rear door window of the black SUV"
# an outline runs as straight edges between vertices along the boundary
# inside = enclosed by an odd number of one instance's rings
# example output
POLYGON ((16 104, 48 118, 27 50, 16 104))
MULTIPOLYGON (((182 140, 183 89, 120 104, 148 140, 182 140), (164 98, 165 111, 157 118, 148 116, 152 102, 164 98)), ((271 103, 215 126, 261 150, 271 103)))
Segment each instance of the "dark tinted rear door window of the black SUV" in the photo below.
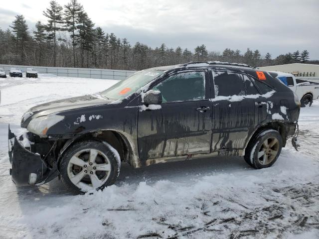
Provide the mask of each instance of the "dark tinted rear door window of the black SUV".
POLYGON ((215 97, 245 95, 245 85, 240 74, 231 72, 214 72, 215 97))

